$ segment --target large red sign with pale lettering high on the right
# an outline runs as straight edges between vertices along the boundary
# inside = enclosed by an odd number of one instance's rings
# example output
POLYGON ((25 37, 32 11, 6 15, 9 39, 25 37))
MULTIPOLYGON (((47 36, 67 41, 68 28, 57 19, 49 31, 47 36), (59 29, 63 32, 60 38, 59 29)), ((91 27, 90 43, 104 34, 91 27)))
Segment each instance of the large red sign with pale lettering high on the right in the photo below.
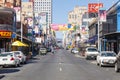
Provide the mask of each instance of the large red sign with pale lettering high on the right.
POLYGON ((97 13, 99 8, 103 7, 103 3, 89 3, 88 4, 88 12, 89 13, 97 13))

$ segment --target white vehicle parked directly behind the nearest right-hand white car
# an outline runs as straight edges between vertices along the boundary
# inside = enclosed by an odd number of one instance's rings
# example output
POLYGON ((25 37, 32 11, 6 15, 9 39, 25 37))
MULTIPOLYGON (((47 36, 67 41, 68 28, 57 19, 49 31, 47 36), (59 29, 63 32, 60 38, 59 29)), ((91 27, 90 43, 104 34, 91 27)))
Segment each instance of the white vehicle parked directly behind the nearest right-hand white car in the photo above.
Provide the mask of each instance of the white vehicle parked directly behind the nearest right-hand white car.
POLYGON ((97 55, 99 54, 99 51, 95 47, 87 47, 85 49, 85 58, 94 58, 96 59, 97 55))

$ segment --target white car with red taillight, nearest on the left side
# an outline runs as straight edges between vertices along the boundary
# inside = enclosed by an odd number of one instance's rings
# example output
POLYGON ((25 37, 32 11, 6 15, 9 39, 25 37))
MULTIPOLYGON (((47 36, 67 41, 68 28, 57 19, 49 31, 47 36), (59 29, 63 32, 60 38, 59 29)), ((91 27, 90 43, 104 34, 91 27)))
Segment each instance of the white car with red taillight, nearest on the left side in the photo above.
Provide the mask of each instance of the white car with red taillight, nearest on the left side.
POLYGON ((3 52, 0 54, 0 66, 20 66, 20 60, 13 52, 3 52))

